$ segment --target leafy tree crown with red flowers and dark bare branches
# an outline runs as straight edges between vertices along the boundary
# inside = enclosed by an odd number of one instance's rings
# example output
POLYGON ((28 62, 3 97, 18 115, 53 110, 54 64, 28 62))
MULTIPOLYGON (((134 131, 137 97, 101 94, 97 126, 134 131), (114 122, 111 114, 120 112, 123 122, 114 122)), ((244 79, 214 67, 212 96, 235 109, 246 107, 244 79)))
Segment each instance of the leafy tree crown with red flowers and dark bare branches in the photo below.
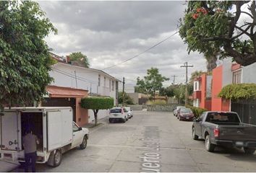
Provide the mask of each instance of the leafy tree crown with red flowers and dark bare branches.
POLYGON ((256 62, 255 6, 255 1, 188 1, 179 35, 189 52, 231 56, 248 66, 256 62))

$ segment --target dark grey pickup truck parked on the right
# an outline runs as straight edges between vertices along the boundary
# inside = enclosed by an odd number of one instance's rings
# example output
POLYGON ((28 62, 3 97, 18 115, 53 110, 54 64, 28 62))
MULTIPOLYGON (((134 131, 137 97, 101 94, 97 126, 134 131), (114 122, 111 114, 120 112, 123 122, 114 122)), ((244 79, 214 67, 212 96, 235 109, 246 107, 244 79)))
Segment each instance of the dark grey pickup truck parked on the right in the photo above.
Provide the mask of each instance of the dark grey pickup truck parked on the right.
POLYGON ((216 146, 238 147, 246 154, 253 154, 256 148, 256 125, 241 123, 236 112, 203 112, 194 119, 192 138, 205 139, 207 151, 216 146))

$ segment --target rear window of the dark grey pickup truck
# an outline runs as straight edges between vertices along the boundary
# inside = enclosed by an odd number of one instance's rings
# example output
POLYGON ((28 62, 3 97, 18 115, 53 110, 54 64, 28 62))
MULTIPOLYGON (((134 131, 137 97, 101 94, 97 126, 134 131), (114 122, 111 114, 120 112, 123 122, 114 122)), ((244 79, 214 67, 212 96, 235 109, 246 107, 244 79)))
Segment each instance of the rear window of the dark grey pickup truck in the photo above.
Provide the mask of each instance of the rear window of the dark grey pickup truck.
POLYGON ((211 112, 206 118, 207 122, 229 122, 240 123, 239 117, 235 113, 226 112, 211 112))

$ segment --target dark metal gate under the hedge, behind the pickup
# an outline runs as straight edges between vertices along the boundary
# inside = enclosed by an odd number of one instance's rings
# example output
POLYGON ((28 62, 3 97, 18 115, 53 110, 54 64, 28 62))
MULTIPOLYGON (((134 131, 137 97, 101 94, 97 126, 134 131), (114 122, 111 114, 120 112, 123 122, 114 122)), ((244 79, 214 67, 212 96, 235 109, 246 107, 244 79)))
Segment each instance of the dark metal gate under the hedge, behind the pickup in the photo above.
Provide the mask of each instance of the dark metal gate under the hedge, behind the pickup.
POLYGON ((232 100, 231 111, 237 112, 243 123, 256 125, 255 99, 232 100))

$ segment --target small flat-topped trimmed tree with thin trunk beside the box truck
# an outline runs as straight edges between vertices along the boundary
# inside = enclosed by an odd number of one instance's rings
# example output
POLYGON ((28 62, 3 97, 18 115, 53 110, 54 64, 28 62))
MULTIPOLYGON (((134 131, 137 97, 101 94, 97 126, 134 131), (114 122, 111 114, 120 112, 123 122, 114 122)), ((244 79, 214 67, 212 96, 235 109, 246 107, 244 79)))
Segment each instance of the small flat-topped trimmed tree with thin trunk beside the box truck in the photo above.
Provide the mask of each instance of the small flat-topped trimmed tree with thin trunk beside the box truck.
POLYGON ((98 123, 98 110, 108 110, 114 107, 114 99, 110 97, 86 97, 81 100, 81 107, 93 110, 95 125, 98 123))

